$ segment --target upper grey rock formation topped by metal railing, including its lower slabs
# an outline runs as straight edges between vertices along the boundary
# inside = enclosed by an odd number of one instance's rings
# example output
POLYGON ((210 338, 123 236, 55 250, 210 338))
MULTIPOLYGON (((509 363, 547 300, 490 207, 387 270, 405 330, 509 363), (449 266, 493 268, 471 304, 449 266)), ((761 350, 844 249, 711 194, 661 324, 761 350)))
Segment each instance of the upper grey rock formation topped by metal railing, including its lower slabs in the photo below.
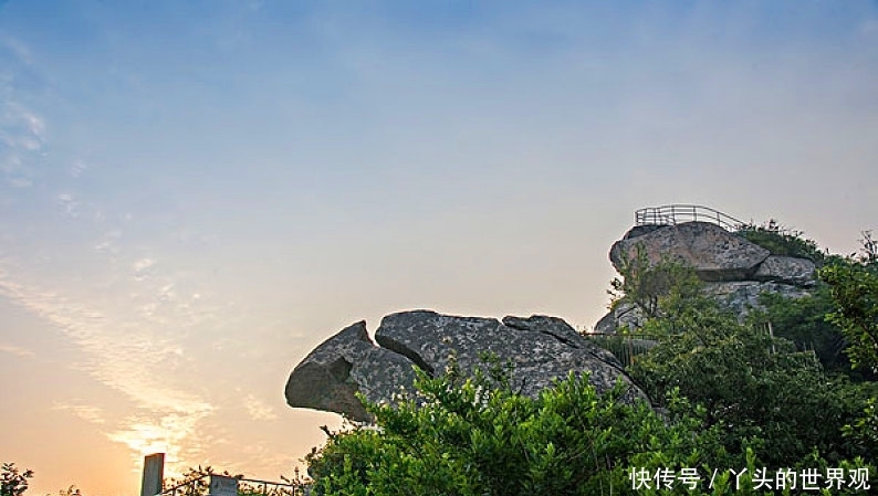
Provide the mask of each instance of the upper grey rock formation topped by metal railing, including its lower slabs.
MULTIPOLYGON (((613 244, 609 260, 619 271, 624 256, 644 251, 650 263, 663 257, 694 267, 704 292, 741 315, 759 307, 763 292, 799 297, 815 284, 814 262, 772 255, 767 250, 709 222, 675 225, 638 225, 613 244)), ((639 327, 638 308, 619 304, 595 325, 598 333, 615 333, 620 326, 639 327)))

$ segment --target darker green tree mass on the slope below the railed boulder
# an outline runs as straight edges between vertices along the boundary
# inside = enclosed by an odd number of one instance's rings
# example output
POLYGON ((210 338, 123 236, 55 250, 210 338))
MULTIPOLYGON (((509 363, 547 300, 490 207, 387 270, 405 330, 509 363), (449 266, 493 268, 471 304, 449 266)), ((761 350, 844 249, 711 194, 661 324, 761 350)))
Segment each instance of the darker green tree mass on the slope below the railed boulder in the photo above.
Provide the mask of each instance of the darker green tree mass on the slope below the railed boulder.
POLYGON ((843 437, 842 426, 856 421, 874 384, 829 378, 813 352, 796 351, 756 321, 740 321, 701 292, 691 267, 668 261, 636 267, 623 276, 638 289, 641 275, 673 274, 641 328, 658 344, 629 368, 655 402, 679 390, 704 408, 705 426, 722 429, 727 450, 757 442, 770 466, 791 466, 815 448, 830 460, 866 454, 843 437))

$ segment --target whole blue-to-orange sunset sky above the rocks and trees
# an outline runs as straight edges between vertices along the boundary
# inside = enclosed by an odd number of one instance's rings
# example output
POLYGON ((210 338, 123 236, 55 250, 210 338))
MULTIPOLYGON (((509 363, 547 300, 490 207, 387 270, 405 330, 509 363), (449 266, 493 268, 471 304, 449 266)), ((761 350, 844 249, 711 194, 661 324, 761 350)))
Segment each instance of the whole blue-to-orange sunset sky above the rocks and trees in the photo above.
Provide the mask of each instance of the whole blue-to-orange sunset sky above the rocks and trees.
POLYGON ((878 2, 0 1, 0 461, 290 475, 393 312, 589 328, 634 211, 878 230, 878 2))

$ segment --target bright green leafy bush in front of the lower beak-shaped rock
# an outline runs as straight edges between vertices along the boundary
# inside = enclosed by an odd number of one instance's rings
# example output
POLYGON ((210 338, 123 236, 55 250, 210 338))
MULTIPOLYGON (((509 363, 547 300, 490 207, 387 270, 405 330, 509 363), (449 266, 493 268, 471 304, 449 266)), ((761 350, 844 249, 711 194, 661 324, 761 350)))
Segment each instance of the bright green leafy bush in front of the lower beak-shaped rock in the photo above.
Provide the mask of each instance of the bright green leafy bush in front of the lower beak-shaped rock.
MULTIPOLYGON (((619 386, 597 394, 571 374, 537 399, 511 390, 502 377, 452 367, 432 379, 418 372, 417 391, 395 405, 368 404, 374 428, 332 433, 309 455, 317 494, 344 495, 594 495, 640 494, 629 469, 731 463, 715 430, 648 403, 620 400, 619 386)), ((715 466, 715 465, 714 465, 715 466)))

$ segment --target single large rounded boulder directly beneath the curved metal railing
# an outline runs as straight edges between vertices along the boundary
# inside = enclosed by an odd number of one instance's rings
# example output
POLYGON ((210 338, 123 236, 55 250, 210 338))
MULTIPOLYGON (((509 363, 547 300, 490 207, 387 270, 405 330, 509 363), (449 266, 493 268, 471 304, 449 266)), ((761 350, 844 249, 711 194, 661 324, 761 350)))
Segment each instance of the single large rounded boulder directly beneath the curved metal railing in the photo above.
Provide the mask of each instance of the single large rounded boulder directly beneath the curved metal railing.
POLYGON ((640 235, 626 235, 610 249, 613 266, 618 271, 623 257, 636 257, 638 247, 642 247, 652 264, 668 257, 694 267, 702 281, 746 279, 770 254, 764 247, 719 225, 686 222, 652 229, 640 235))

